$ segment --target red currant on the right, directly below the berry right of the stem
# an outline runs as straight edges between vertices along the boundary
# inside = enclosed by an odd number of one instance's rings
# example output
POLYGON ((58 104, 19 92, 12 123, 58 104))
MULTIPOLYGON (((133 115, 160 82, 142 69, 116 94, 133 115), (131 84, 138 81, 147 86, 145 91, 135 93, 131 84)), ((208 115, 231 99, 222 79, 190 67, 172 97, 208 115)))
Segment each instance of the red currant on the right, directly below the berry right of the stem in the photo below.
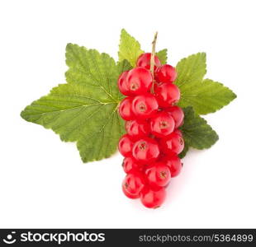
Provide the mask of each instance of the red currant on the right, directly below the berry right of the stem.
POLYGON ((178 102, 180 91, 178 86, 172 83, 163 83, 154 86, 155 97, 159 102, 159 106, 168 107, 178 102))

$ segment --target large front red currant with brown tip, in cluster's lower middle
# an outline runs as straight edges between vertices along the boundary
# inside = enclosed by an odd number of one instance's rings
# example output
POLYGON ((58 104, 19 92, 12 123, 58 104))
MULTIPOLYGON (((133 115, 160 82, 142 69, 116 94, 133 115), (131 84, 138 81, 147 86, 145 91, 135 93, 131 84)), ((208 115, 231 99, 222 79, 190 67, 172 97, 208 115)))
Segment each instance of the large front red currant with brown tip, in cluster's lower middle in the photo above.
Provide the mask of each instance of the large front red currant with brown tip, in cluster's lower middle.
POLYGON ((159 144, 154 139, 144 137, 135 142, 132 148, 132 156, 140 164, 154 162, 159 156, 159 144))

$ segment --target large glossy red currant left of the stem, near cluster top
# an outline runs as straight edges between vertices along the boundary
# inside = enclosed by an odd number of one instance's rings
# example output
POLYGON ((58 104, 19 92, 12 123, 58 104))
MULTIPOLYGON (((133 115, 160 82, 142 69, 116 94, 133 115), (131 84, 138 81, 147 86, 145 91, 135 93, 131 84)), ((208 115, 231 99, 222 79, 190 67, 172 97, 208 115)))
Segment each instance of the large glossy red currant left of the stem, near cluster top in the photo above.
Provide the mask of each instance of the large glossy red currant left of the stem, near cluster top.
POLYGON ((126 86, 132 95, 142 95, 150 90, 153 78, 149 70, 145 68, 133 68, 127 73, 126 86))

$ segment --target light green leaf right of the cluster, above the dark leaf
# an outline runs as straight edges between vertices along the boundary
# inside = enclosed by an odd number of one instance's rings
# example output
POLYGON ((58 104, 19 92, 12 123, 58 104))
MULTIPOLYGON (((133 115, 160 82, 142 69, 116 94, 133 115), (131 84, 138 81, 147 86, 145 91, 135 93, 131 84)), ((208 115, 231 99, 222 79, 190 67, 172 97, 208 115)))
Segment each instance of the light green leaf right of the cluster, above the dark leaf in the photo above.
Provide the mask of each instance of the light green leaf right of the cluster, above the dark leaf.
POLYGON ((181 91, 178 105, 191 105, 197 114, 209 114, 220 110, 235 99, 235 93, 220 82, 203 80, 206 74, 206 54, 193 54, 183 58, 176 67, 178 77, 175 84, 181 91))

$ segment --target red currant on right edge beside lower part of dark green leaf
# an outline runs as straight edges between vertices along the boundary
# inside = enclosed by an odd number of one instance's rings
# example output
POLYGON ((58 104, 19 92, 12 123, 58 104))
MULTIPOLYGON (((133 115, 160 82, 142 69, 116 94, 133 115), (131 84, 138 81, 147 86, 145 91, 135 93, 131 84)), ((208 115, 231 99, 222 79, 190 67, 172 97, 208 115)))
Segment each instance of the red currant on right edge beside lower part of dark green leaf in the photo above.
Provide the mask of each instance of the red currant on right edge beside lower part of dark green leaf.
POLYGON ((164 137, 160 141, 161 150, 168 156, 179 154, 183 151, 184 141, 178 133, 171 133, 168 137, 164 137))

